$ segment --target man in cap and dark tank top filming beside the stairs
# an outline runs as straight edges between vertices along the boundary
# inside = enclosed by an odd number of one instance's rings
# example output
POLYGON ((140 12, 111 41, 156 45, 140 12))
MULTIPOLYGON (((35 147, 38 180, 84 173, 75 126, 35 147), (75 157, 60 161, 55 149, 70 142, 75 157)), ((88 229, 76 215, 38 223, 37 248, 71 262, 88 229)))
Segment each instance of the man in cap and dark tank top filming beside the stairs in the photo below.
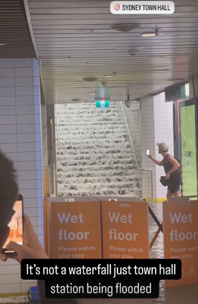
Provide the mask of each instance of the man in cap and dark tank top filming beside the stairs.
POLYGON ((148 157, 154 161, 158 166, 163 166, 165 171, 165 180, 169 181, 168 190, 167 190, 167 200, 171 199, 173 196, 181 196, 180 194, 180 185, 181 185, 181 176, 180 176, 180 164, 178 161, 168 154, 168 145, 166 143, 157 143, 159 147, 159 154, 163 156, 162 161, 158 161, 150 154, 148 157))

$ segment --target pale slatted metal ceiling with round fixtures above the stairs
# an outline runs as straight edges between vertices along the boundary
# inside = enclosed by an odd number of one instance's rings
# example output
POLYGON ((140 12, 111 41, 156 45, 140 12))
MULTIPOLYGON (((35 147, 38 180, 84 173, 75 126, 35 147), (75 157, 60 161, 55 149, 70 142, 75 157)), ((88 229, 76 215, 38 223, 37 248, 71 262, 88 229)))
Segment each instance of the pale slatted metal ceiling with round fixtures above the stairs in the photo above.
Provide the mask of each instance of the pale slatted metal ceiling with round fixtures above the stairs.
POLYGON ((47 103, 94 101, 107 81, 111 101, 136 99, 198 71, 198 0, 175 0, 172 15, 113 15, 111 1, 28 0, 47 103), (120 33, 113 24, 138 23, 120 33), (140 33, 161 28, 158 36, 140 33), (144 47, 130 56, 128 47, 144 47), (104 78, 116 72, 114 78, 104 78), (85 77, 98 78, 86 82, 85 77))

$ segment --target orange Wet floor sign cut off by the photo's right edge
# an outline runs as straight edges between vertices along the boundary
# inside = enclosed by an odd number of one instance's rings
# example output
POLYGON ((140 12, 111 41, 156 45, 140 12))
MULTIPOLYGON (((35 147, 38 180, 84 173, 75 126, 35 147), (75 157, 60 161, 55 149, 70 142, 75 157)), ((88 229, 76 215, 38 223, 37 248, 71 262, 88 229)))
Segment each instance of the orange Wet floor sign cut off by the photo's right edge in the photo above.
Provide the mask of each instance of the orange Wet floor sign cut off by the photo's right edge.
POLYGON ((198 201, 163 202, 164 258, 181 259, 182 278, 165 287, 198 283, 198 201))

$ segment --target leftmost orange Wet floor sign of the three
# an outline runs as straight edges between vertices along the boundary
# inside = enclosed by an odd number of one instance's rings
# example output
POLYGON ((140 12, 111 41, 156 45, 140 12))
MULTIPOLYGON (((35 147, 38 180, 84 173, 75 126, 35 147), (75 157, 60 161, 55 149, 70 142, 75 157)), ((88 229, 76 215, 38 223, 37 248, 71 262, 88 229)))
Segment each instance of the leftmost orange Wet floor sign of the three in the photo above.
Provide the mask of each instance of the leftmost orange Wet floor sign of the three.
POLYGON ((99 202, 52 202, 48 206, 48 255, 100 259, 99 202))

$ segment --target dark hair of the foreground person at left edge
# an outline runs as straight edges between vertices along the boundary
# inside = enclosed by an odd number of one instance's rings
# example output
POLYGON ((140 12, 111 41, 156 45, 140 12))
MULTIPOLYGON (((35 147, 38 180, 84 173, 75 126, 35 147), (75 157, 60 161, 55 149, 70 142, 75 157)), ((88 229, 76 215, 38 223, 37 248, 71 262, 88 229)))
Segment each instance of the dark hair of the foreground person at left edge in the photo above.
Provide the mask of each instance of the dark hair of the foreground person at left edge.
POLYGON ((0 223, 10 220, 18 198, 18 184, 14 164, 0 150, 0 223))

